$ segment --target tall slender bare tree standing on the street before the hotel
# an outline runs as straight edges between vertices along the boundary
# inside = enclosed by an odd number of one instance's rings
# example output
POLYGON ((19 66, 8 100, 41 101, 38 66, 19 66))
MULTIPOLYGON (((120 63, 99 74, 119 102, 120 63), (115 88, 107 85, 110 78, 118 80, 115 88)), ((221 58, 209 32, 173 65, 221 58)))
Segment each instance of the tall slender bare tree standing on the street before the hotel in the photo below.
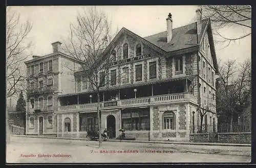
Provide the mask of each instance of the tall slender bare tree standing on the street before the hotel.
POLYGON ((117 43, 111 41, 111 22, 96 7, 78 13, 75 23, 70 25, 70 37, 63 52, 77 59, 91 89, 97 94, 97 119, 99 148, 101 147, 100 88, 108 87, 109 68, 119 51, 117 43), (106 83, 106 85, 105 85, 106 83))

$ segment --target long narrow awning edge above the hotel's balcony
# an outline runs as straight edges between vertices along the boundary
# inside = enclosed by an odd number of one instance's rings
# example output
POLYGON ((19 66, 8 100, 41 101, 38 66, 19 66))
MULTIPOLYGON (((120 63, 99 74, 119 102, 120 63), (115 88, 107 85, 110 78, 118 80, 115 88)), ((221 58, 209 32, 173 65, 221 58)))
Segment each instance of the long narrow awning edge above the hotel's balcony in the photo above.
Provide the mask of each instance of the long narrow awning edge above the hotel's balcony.
MULTIPOLYGON (((110 86, 108 88, 100 89, 100 92, 109 91, 109 90, 125 89, 125 88, 134 88, 134 87, 138 87, 138 86, 166 83, 166 82, 170 82, 170 81, 179 81, 179 80, 185 80, 185 79, 188 79, 191 81, 194 77, 196 77, 196 75, 180 77, 180 78, 163 79, 163 80, 157 80, 157 81, 141 82, 141 83, 136 83, 136 84, 126 84, 126 85, 114 86, 114 87, 110 86)), ((91 91, 78 92, 78 93, 61 94, 61 95, 59 95, 59 98, 70 97, 73 95, 89 94, 89 93, 93 93, 93 92, 95 92, 95 91, 91 90, 91 91)))

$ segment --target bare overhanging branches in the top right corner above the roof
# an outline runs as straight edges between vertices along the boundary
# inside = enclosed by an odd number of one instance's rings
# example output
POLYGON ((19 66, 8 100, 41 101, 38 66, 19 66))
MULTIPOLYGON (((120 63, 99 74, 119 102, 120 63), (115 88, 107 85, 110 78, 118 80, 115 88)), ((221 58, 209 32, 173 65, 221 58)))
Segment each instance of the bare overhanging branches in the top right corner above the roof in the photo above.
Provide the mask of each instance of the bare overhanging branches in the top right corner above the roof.
POLYGON ((220 37, 216 42, 225 43, 236 41, 251 35, 251 6, 249 5, 207 5, 202 6, 204 18, 210 18, 213 33, 220 37), (239 35, 227 37, 220 33, 222 28, 241 27, 239 35))

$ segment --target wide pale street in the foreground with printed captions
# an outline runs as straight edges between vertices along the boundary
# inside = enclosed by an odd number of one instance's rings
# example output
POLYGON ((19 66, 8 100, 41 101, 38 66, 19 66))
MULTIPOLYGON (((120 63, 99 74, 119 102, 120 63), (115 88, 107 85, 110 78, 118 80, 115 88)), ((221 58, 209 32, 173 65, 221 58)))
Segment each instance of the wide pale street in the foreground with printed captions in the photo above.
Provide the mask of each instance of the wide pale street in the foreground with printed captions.
POLYGON ((11 136, 7 163, 250 162, 251 147, 102 142, 11 136))

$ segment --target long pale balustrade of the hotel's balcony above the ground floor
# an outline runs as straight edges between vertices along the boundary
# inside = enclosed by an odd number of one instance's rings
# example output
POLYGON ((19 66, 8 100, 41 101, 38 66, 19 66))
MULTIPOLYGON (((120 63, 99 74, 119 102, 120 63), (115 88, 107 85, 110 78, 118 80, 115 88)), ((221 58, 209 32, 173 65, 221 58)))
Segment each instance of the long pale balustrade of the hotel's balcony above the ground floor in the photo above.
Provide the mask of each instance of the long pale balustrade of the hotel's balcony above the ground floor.
MULTIPOLYGON (((145 98, 125 99, 125 100, 113 100, 100 102, 100 109, 111 109, 111 108, 128 108, 128 107, 140 107, 148 105, 166 104, 190 101, 197 103, 197 98, 188 92, 177 93, 177 94, 164 94, 155 95, 145 98)), ((97 110, 97 103, 89 104, 76 104, 68 106, 59 106, 58 111, 95 111, 97 110)))

